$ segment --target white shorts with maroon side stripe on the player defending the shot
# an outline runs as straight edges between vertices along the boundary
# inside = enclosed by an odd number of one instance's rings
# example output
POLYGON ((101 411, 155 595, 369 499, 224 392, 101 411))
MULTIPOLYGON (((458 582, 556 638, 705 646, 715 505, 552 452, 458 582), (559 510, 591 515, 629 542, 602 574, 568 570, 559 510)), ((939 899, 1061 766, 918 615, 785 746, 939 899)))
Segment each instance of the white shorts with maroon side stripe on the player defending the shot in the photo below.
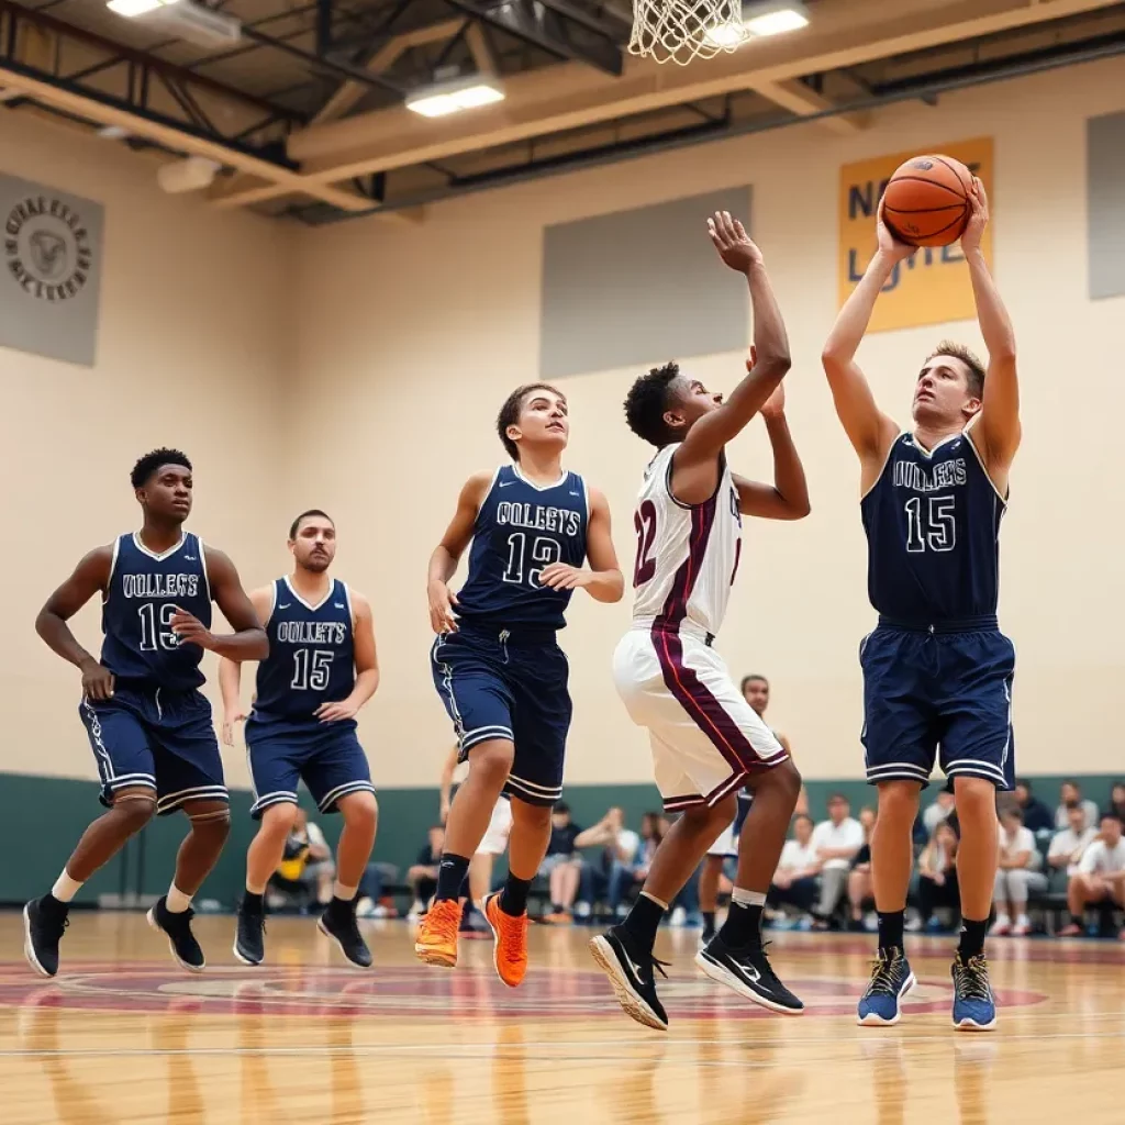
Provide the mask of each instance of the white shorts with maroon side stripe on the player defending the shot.
POLYGON ((702 638, 630 629, 613 654, 613 680, 632 721, 648 728, 669 812, 717 804, 789 757, 702 638))

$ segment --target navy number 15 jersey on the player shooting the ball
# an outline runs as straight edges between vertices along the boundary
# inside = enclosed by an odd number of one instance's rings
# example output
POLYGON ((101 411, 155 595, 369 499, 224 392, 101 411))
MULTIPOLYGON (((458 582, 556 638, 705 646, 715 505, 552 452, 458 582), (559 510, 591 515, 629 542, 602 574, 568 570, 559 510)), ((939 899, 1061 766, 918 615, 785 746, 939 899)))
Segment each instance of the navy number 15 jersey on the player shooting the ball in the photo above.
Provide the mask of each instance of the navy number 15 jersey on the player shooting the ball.
POLYGON ((861 507, 880 614, 928 626, 996 613, 1005 501, 968 431, 933 452, 901 434, 861 507))

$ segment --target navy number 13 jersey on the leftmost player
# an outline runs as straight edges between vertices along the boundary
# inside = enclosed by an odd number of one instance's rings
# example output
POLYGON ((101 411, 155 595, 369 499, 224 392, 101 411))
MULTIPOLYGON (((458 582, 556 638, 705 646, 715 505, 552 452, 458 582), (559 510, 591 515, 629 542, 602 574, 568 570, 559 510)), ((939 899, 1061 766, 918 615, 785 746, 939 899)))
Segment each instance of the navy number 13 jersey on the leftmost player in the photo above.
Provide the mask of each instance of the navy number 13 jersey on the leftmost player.
POLYGON ((137 534, 114 544, 109 590, 101 606, 101 663, 137 687, 190 691, 204 682, 198 645, 181 645, 172 615, 184 610, 210 628, 210 587, 202 540, 186 532, 156 555, 137 534))

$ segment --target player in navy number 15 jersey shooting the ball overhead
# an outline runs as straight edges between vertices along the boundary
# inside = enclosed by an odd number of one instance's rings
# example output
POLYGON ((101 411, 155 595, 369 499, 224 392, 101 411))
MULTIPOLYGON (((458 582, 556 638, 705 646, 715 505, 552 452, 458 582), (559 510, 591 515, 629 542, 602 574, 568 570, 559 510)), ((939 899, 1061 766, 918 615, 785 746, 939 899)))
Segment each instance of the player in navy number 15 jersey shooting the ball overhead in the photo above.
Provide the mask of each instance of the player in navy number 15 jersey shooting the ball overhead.
POLYGON ((915 978, 902 950, 911 829, 935 757, 953 778, 961 826, 963 918, 953 963, 954 1026, 996 1026, 984 932, 997 867, 996 790, 1014 776, 1015 651, 997 624, 998 536, 1019 446, 1011 322, 981 252, 988 198, 974 182, 961 240, 988 370, 943 343, 915 382, 914 430, 875 405, 855 363, 875 300, 914 249, 879 222, 879 251, 825 344, 836 412, 860 454, 867 592, 879 626, 860 649, 867 780, 879 788, 871 840, 879 960, 860 1002, 862 1024, 893 1024, 915 978))

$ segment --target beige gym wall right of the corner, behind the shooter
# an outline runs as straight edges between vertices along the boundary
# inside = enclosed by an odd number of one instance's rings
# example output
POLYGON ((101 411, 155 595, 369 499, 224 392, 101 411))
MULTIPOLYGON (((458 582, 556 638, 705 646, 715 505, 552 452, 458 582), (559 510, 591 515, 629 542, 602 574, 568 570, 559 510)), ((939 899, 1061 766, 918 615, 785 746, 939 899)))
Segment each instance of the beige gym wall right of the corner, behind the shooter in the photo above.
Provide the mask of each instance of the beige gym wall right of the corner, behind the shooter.
MULTIPOLYGON (((1024 386, 1001 603, 1019 649, 1018 760, 1028 772, 1119 768, 1106 701, 1125 670, 1115 488, 1125 468, 1116 432, 1125 299, 1086 296, 1084 123, 1122 108, 1125 62, 1108 61, 948 94, 936 108, 884 109, 853 137, 807 125, 471 196, 430 208, 421 225, 360 220, 300 232, 291 278, 299 378, 288 440, 277 450, 295 459, 290 507, 320 504, 336 516, 341 574, 375 604, 384 686, 362 734, 378 782, 432 783, 450 741, 429 673, 426 559, 464 479, 502 456, 493 430, 501 402, 538 375, 543 226, 744 183, 753 184, 754 230, 792 339, 790 414, 813 512, 801 524, 748 529, 719 648, 735 675, 771 675, 771 719, 809 776, 861 774, 856 649, 873 614, 857 468, 819 364, 836 313, 838 171, 852 160, 987 135, 996 140, 996 272, 1016 322, 1024 386)), ((730 284, 739 279, 730 274, 730 284)), ((861 352, 881 403, 903 421, 917 366, 946 334, 981 343, 974 324, 960 323, 879 335, 861 352)), ((729 388, 742 356, 690 362, 729 388)), ((621 416, 633 374, 591 372, 564 387, 574 421, 568 462, 609 495, 627 575, 647 459, 621 416)), ((735 461, 768 472, 760 426, 737 443, 735 461)), ((650 777, 646 740, 609 670, 628 618, 628 602, 574 600, 564 634, 575 698, 570 782, 650 777)))

